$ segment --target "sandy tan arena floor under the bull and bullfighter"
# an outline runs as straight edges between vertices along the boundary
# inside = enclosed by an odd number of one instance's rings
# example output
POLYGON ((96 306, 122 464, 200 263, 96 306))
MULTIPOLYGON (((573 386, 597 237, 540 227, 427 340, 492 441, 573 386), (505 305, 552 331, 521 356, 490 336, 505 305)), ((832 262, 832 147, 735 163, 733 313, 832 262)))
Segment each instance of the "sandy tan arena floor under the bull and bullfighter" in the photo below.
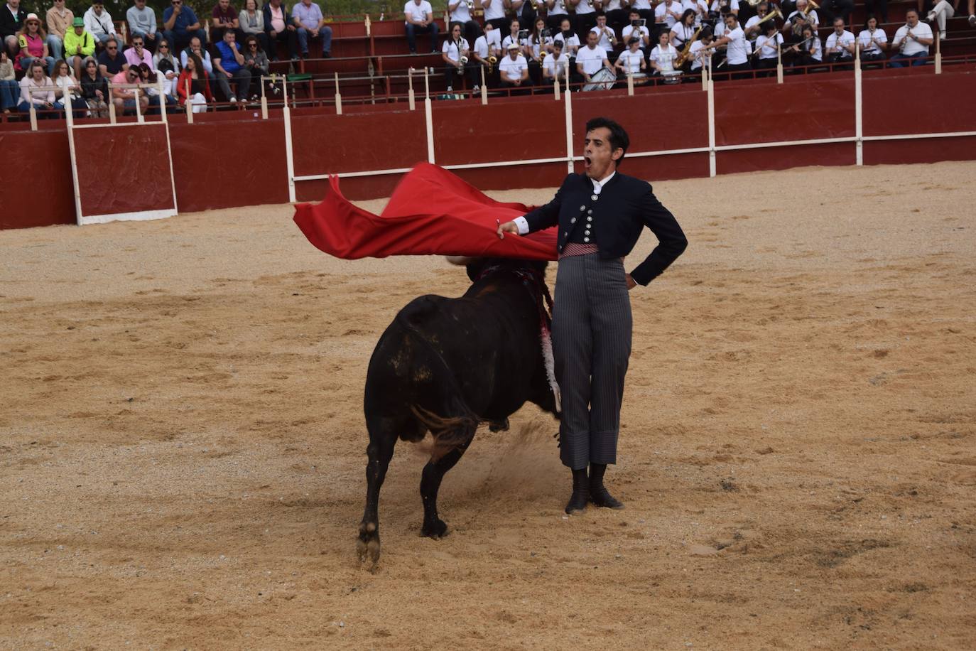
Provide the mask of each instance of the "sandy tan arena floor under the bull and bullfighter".
POLYGON ((972 648, 974 176, 657 184, 690 247, 631 295, 627 509, 564 517, 525 408, 441 541, 398 444, 376 574, 366 363, 462 269, 333 260, 289 206, 0 232, 0 647, 972 648))

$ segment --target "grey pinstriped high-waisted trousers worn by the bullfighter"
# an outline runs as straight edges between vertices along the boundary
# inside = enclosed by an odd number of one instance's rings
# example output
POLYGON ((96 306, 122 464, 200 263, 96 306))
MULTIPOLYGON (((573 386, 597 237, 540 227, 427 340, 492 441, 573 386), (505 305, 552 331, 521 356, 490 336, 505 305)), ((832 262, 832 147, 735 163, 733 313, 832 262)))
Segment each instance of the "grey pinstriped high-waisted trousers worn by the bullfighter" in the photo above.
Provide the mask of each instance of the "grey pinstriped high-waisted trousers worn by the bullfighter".
POLYGON ((554 304, 559 458, 573 469, 616 464, 632 327, 623 261, 596 253, 561 258, 554 304))

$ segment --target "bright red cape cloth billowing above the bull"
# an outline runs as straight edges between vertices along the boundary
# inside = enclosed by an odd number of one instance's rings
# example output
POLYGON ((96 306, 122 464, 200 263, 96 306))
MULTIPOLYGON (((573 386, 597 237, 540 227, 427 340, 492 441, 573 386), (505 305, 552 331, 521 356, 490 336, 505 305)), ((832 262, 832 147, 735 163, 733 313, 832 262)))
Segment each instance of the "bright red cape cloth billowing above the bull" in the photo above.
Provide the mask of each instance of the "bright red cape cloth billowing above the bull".
POLYGON ((339 178, 319 204, 295 207, 295 223, 316 248, 346 260, 406 255, 487 256, 555 260, 556 229, 499 239, 498 223, 531 208, 502 203, 436 165, 420 163, 374 215, 350 203, 339 178))

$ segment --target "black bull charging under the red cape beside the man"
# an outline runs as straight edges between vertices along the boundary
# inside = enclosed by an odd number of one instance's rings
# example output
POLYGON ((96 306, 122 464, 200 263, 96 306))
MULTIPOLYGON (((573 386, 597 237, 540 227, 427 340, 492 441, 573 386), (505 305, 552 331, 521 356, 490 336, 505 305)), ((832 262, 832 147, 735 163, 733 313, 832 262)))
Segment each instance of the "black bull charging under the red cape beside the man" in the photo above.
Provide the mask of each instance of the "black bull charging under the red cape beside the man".
POLYGON ((401 309, 370 358, 360 560, 380 557, 380 488, 397 438, 433 435, 421 479, 421 535, 439 538, 447 525, 437 516, 437 490, 477 427, 507 428, 526 401, 556 413, 541 345, 543 322, 550 326, 546 263, 479 259, 468 276, 473 283, 460 299, 422 296, 401 309))

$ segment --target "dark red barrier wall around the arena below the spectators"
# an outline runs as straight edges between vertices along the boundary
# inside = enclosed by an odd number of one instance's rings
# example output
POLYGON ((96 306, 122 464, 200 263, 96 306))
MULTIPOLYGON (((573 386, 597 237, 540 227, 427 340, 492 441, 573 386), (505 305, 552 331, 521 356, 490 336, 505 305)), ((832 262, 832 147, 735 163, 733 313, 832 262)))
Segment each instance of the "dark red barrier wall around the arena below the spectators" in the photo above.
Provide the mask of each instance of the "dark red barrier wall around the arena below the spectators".
MULTIPOLYGON (((864 75, 864 135, 976 131, 976 68, 951 66, 909 72, 868 71, 864 75)), ((356 107, 345 115, 328 109, 293 113, 295 174, 298 176, 407 168, 427 160, 423 102, 356 107)), ((562 102, 549 98, 433 102, 435 160, 442 165, 565 156, 562 102)), ((584 125, 608 115, 629 131, 631 152, 708 146, 707 95, 697 84, 640 91, 573 95, 574 153, 582 155, 584 125)), ((177 197, 182 212, 288 201, 284 123, 280 111, 268 120, 250 112, 198 115, 186 124, 170 120, 177 197)), ((73 224, 67 138, 61 121, 44 121, 40 131, 24 123, 0 129, 0 151, 17 156, 17 178, 36 183, 0 183, 0 228, 73 224), (60 178, 62 183, 48 183, 60 178), (43 192, 38 193, 39 183, 43 192), (41 197, 40 204, 37 199, 41 197)), ((102 138, 114 129, 92 129, 102 138)), ((854 136, 851 73, 788 76, 715 85, 716 145, 854 136)), ((864 162, 915 163, 976 158, 976 138, 864 142, 864 162)), ((89 146, 99 147, 98 142, 89 146)), ((775 148, 719 150, 719 174, 805 165, 851 165, 853 142, 775 148)), ((158 163, 158 161, 157 161, 158 163)), ((161 164, 160 164, 161 165, 161 164)), ((580 166, 577 166, 579 171, 580 166)), ((706 177, 709 153, 629 156, 623 171, 649 180, 706 177)), ((566 174, 564 162, 457 171, 484 189, 553 186, 566 174)), ((106 183, 118 183, 114 174, 106 183)), ((388 196, 399 175, 343 179, 352 199, 388 196)), ((123 179, 124 181, 124 179, 123 179)), ((322 196, 326 181, 296 183, 300 201, 322 196)), ((90 183, 89 183, 90 184, 90 183)), ((83 191, 83 198, 89 194, 83 191)), ((98 195, 98 189, 96 194, 98 195)))

